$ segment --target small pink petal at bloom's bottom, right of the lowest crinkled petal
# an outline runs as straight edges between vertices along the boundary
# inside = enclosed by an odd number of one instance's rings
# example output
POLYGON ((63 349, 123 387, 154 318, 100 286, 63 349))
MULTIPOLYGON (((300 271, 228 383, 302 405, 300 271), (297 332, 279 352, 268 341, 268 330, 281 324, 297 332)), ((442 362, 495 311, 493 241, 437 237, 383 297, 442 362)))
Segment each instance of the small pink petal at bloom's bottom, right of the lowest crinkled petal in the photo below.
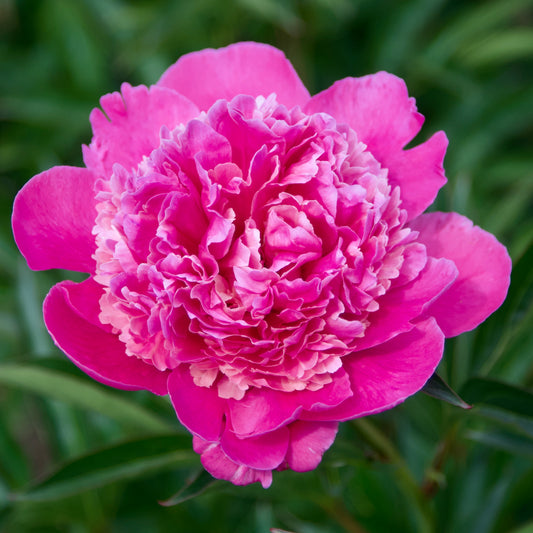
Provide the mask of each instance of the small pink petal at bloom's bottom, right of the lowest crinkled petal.
POLYGON ((299 420, 289 426, 291 440, 287 451, 287 464, 295 472, 315 469, 324 452, 333 444, 339 424, 337 422, 308 422, 299 420))

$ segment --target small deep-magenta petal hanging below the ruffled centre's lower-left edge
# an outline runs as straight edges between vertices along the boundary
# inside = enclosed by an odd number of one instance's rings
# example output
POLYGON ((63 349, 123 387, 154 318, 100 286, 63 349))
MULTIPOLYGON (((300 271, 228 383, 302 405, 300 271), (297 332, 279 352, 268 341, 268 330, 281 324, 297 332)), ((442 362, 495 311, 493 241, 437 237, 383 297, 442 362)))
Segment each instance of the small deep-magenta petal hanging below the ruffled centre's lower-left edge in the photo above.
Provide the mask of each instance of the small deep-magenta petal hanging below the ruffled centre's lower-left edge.
POLYGON ((225 400, 216 387, 199 387, 186 365, 175 368, 168 378, 168 393, 180 422, 193 434, 208 441, 219 439, 223 429, 225 400))

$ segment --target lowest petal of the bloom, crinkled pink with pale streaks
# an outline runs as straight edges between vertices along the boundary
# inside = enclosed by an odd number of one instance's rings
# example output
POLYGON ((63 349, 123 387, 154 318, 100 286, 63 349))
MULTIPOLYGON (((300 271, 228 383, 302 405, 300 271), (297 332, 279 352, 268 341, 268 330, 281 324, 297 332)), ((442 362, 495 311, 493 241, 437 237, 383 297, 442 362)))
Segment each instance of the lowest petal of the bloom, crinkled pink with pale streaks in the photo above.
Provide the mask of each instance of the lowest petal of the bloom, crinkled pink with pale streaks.
POLYGON ((256 470, 233 462, 218 442, 208 442, 193 436, 193 447, 201 454, 204 468, 215 478, 231 481, 234 485, 249 485, 259 481, 264 489, 272 484, 272 470, 256 470))

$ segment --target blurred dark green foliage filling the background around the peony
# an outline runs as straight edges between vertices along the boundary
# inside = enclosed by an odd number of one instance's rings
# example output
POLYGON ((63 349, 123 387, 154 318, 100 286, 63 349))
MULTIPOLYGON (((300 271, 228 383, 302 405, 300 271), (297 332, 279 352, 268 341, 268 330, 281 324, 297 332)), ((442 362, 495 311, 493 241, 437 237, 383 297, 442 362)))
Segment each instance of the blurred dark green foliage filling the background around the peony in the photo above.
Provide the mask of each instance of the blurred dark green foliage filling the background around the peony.
POLYGON ((0 530, 532 531, 532 22, 532 0, 0 0, 0 530), (317 471, 276 474, 268 491, 195 477, 165 399, 65 361, 41 302, 72 275, 31 273, 9 223, 32 175, 81 165, 102 94, 240 40, 282 48, 312 93, 403 77, 427 117, 421 138, 450 139, 436 207, 495 233, 514 263, 506 303, 447 341, 439 370, 474 409, 419 394, 345 423, 317 471), (158 504, 169 498, 182 503, 158 504))

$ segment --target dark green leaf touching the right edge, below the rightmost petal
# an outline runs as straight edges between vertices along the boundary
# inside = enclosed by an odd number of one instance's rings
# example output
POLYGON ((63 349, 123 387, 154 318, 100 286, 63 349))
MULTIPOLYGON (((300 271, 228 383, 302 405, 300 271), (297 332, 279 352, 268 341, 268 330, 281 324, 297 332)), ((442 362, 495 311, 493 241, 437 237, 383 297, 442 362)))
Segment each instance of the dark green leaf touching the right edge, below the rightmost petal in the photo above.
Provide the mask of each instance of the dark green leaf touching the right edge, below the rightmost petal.
POLYGON ((493 379, 473 378, 461 389, 468 403, 483 403, 518 415, 533 417, 533 393, 493 379))

